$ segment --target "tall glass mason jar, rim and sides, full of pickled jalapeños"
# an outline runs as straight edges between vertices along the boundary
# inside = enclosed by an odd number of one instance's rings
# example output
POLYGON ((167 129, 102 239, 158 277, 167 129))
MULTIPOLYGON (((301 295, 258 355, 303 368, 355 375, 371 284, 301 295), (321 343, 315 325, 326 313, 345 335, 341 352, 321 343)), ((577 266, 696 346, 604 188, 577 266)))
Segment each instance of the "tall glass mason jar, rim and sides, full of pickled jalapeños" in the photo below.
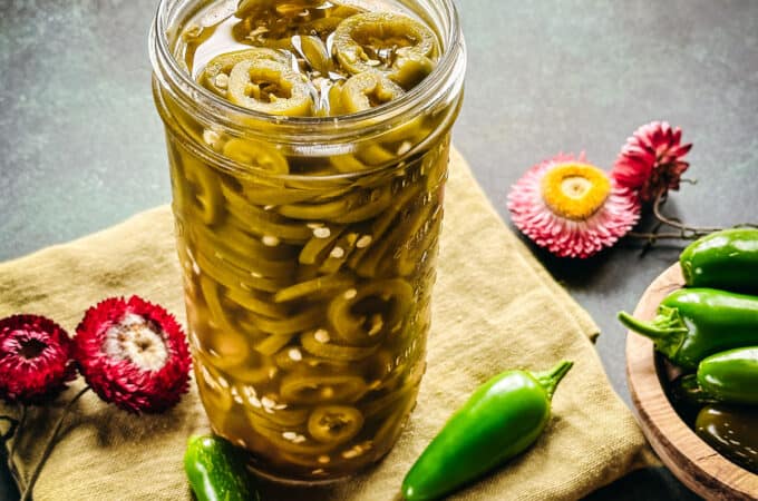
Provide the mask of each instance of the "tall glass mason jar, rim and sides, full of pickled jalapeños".
POLYGON ((150 32, 197 387, 214 432, 276 480, 381 459, 426 370, 464 40, 450 0, 376 2, 431 28, 439 59, 336 117, 265 115, 196 82, 183 40, 236 1, 162 0, 150 32))

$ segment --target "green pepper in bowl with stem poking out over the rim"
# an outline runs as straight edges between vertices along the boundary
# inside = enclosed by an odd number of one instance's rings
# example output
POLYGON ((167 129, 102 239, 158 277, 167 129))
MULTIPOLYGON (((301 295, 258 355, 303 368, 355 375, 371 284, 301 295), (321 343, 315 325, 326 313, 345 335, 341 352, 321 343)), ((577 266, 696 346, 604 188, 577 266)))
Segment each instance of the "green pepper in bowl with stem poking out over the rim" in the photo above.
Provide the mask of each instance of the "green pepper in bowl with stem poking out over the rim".
POLYGON ((669 294, 652 322, 619 313, 622 324, 653 340, 655 350, 686 370, 704 357, 758 345, 758 296, 683 288, 669 294))

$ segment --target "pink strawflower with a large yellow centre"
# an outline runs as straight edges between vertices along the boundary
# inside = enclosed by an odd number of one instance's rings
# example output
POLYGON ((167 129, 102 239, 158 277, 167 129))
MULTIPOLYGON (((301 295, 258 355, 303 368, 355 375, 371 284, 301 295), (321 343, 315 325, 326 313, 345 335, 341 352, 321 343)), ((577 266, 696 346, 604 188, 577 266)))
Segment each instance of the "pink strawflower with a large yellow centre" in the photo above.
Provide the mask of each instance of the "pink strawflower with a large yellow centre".
POLYGON ((558 155, 535 165, 513 186, 514 224, 561 257, 589 257, 612 246, 640 217, 631 189, 619 186, 584 155, 558 155))

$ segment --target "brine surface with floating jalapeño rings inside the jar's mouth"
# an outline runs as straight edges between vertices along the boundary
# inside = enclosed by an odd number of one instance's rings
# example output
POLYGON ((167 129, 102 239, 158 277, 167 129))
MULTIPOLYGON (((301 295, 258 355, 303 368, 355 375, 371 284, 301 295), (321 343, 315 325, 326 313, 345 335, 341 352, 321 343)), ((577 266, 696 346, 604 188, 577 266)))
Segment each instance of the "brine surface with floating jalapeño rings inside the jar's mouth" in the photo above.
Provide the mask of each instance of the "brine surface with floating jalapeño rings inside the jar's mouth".
POLYGON ((410 90, 434 69, 434 31, 399 6, 242 1, 204 9, 177 56, 208 90, 271 115, 354 114, 410 90))

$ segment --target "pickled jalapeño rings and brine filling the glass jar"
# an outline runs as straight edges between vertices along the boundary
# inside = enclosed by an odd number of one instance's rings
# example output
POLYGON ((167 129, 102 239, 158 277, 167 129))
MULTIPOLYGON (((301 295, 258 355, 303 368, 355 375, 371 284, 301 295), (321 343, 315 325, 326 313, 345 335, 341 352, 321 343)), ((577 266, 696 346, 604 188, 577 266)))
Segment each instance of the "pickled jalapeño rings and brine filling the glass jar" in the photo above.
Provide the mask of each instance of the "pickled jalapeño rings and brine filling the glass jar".
MULTIPOLYGON (((440 46, 418 18, 370 2, 256 0, 229 16, 198 12, 175 52, 221 99, 318 117, 401 97, 433 71, 440 46)), ((235 137, 167 92, 156 100, 195 376, 214 431, 283 480, 333 480, 378 461, 425 371, 459 100, 339 155, 235 137)))

